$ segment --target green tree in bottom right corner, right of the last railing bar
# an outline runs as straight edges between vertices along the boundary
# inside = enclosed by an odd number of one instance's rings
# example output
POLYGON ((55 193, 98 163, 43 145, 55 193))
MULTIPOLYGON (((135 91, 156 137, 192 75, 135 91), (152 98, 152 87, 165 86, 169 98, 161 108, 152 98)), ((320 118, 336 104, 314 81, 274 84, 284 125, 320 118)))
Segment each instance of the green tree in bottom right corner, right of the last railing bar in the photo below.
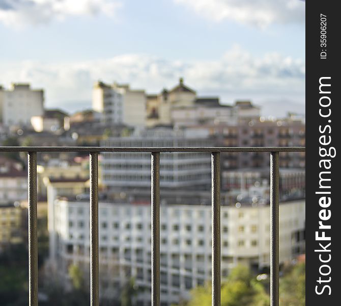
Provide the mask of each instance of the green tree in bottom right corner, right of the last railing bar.
POLYGON ((279 302, 281 306, 305 305, 305 263, 286 269, 279 281, 279 302))

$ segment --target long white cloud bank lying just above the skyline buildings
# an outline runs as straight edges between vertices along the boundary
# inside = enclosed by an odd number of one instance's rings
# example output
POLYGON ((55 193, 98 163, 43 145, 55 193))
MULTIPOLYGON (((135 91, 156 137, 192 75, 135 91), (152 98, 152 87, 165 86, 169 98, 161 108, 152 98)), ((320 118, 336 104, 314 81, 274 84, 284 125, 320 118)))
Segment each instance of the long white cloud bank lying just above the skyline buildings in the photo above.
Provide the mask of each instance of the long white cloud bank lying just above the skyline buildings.
MULTIPOLYGON (((91 100, 93 82, 130 83, 132 88, 160 92, 179 77, 199 94, 236 98, 304 94, 304 61, 277 53, 254 57, 239 46, 215 61, 166 60, 148 55, 121 55, 110 59, 44 64, 36 61, 0 63, 0 84, 30 82, 43 87, 48 106, 60 101, 91 100)), ((231 101, 226 101, 231 103, 231 101)))

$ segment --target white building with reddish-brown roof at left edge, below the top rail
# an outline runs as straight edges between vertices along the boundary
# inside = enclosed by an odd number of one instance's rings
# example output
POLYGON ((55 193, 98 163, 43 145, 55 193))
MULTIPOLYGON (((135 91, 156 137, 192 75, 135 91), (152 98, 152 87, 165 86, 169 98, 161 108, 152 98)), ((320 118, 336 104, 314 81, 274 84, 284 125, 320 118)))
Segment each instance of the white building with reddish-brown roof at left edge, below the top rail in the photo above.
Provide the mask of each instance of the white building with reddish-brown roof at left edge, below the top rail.
POLYGON ((27 200, 27 172, 22 165, 0 157, 0 205, 27 200))

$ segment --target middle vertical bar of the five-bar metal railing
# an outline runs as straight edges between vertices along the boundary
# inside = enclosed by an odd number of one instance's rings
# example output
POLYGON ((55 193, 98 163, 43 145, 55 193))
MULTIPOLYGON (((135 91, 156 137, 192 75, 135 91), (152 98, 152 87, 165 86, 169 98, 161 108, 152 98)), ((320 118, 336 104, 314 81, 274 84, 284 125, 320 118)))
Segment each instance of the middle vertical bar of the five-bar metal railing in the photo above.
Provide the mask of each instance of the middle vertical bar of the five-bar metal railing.
POLYGON ((151 156, 152 306, 160 305, 160 152, 151 156))

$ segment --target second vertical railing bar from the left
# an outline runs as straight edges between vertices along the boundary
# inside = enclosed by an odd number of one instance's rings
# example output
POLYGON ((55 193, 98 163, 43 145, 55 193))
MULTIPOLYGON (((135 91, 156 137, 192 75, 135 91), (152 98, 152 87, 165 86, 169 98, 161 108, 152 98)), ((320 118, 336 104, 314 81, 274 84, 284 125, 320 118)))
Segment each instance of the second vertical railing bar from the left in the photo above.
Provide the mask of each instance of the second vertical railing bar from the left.
POLYGON ((90 152, 90 305, 99 306, 98 152, 90 152))

